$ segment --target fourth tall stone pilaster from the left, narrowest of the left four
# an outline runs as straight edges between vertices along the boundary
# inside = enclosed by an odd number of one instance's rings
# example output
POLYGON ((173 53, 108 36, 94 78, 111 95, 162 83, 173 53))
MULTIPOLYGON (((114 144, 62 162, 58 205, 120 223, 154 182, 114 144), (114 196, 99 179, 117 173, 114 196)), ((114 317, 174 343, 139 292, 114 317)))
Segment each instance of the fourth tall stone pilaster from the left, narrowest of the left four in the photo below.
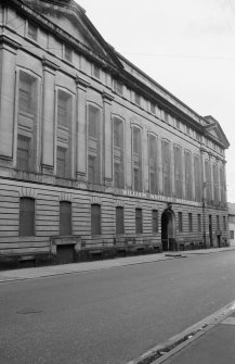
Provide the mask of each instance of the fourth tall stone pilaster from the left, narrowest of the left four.
POLYGON ((113 176, 113 138, 112 138, 112 101, 114 100, 113 96, 109 93, 103 92, 103 176, 104 185, 112 185, 113 176))

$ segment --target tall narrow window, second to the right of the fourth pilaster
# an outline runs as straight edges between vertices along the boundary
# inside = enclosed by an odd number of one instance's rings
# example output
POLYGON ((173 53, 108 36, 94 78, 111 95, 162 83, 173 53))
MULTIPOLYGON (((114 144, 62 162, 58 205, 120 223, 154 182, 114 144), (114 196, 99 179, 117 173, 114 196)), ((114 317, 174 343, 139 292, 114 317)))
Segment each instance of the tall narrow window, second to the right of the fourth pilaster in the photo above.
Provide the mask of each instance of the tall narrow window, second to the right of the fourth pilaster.
POLYGON ((133 127, 133 188, 135 191, 142 190, 142 153, 141 153, 141 129, 133 127))

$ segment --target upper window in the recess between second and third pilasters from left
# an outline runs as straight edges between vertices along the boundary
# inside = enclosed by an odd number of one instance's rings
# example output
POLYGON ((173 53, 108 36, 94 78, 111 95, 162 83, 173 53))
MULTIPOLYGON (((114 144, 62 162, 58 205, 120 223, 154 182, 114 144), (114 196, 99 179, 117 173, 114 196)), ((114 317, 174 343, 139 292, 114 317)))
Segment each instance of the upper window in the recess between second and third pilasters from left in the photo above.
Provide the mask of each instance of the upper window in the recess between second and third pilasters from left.
POLYGON ((71 118, 71 97, 70 95, 58 90, 57 92, 57 124, 69 127, 71 118))

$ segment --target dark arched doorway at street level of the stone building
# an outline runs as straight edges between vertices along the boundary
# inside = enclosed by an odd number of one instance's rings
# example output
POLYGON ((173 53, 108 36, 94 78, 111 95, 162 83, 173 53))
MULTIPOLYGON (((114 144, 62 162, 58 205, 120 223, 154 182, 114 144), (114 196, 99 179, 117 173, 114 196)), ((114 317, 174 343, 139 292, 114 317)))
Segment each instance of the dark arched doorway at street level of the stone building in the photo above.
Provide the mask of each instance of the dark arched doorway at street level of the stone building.
POLYGON ((162 251, 175 250, 175 216, 171 209, 161 215, 161 244, 162 251))

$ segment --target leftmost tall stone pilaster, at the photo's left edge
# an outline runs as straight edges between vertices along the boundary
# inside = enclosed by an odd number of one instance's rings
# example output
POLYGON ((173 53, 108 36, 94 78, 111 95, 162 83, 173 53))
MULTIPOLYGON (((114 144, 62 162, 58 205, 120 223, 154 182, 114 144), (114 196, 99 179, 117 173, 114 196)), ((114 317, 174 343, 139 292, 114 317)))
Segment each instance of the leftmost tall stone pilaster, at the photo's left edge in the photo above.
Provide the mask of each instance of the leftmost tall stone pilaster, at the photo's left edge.
POLYGON ((16 53, 21 45, 0 36, 0 158, 13 160, 16 53))

